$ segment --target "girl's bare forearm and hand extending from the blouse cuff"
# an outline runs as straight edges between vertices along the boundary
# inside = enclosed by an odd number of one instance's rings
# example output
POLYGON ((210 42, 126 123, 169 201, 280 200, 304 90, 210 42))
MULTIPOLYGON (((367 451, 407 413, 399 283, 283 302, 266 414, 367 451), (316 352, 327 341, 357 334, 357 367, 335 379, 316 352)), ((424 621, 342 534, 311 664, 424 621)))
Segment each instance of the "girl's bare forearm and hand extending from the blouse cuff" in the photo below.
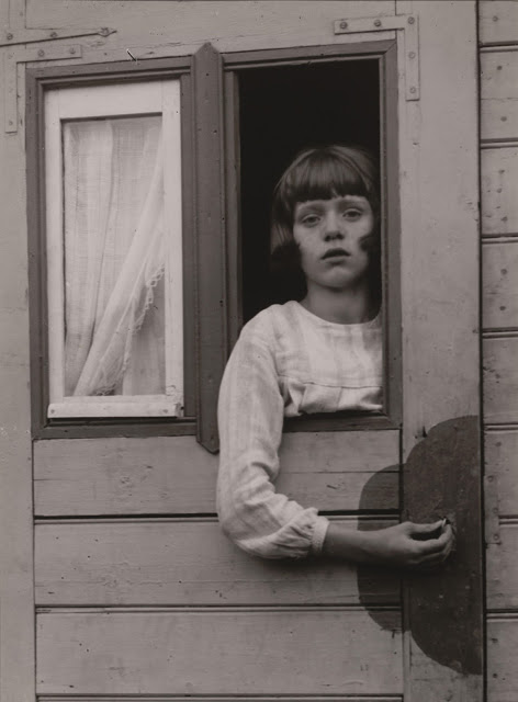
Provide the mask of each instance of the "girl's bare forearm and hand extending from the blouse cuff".
POLYGON ((403 522, 378 531, 350 531, 331 522, 323 553, 356 563, 428 569, 448 558, 453 541, 453 530, 444 520, 403 522))

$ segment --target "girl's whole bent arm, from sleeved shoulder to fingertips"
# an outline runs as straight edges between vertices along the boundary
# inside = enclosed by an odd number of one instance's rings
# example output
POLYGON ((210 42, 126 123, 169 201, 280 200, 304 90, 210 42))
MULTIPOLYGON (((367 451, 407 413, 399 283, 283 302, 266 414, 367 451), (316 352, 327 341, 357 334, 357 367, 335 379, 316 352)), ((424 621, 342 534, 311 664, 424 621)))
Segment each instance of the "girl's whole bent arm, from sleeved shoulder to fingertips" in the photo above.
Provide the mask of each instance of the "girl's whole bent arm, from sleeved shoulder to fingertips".
POLYGON ((390 566, 441 563, 453 544, 449 524, 438 537, 433 532, 441 522, 354 532, 275 492, 284 404, 272 348, 273 333, 261 314, 243 330, 223 377, 217 511, 225 533, 248 553, 266 558, 322 553, 390 566))

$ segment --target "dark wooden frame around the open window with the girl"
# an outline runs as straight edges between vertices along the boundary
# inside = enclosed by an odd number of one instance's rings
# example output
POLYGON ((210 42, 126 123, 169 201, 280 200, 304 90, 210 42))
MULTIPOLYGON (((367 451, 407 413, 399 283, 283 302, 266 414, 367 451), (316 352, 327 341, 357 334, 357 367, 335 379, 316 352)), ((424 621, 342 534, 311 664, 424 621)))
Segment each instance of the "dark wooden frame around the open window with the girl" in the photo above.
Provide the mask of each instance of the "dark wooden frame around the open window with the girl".
POLYGON ((243 326, 240 316, 240 225, 239 225, 239 136, 238 72, 254 68, 378 59, 380 76, 380 172, 383 285, 383 411, 337 412, 296 417, 284 421, 284 431, 346 431, 395 429, 403 421, 402 387, 402 304, 399 251, 399 154, 397 43, 395 39, 329 44, 296 48, 260 49, 222 54, 225 71, 225 125, 232 139, 227 144, 227 284, 228 339, 233 348, 243 326), (390 234, 390 242, 387 246, 390 234))

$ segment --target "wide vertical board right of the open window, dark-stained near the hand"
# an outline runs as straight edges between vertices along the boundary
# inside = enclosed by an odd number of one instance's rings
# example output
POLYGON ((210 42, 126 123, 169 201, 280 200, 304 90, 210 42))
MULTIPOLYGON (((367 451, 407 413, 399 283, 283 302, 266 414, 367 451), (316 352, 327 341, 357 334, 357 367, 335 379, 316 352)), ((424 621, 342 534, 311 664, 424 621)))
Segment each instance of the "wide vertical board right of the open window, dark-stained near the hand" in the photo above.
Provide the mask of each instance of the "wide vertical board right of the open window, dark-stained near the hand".
POLYGON ((420 100, 402 98, 399 103, 404 510, 419 521, 453 510, 463 547, 451 569, 406 584, 405 700, 481 702, 476 3, 415 2, 414 10, 419 18, 420 100), (466 442, 470 456, 458 476, 457 488, 470 496, 462 506, 448 495, 444 464, 455 442, 457 419, 460 444, 466 442), (416 444, 419 451, 413 454, 416 444), (413 503, 406 503, 412 495, 413 503), (460 626, 452 633, 455 618, 460 626))

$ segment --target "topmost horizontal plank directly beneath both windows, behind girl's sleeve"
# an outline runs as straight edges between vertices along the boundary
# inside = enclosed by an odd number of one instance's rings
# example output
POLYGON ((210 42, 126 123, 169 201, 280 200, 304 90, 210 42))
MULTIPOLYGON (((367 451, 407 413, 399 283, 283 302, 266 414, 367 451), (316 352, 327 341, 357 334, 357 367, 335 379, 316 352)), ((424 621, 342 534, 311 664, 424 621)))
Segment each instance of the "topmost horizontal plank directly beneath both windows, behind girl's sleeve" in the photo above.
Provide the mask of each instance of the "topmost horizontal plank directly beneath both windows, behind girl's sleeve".
MULTIPOLYGON (((397 509, 397 431, 284 434, 278 489, 320 510, 397 509)), ((193 437, 40 441, 35 513, 214 513, 216 475, 193 437)))

